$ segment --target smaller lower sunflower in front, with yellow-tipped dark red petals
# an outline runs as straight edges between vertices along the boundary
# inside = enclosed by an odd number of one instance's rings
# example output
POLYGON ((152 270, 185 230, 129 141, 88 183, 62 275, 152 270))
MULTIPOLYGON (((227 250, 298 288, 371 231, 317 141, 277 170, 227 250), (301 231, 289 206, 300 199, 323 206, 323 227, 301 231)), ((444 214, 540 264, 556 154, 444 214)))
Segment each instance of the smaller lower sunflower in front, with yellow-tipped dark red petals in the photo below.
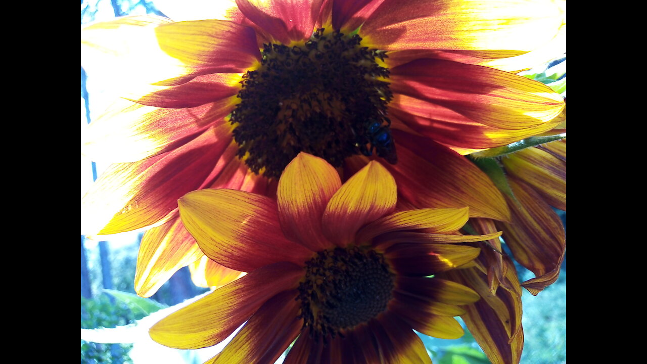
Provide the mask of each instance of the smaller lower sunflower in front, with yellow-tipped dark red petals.
POLYGON ((214 363, 431 363, 411 329, 454 339, 469 288, 433 277, 468 265, 500 233, 456 232, 467 208, 395 211, 395 179, 371 161, 343 185, 324 159, 300 153, 277 199, 203 189, 180 201, 209 258, 248 271, 150 329, 175 348, 215 345, 245 324, 214 363), (321 361, 319 361, 321 360, 321 361))

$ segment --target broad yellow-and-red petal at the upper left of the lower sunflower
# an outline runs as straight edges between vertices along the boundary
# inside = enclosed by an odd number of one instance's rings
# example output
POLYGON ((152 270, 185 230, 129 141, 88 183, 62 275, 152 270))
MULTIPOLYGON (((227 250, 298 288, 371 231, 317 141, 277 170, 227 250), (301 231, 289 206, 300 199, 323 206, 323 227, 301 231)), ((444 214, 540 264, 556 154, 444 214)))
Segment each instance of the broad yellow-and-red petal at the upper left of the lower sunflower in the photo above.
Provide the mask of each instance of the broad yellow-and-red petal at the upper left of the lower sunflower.
POLYGON ((313 252, 283 236, 276 201, 238 190, 197 190, 178 201, 198 245, 218 264, 252 271, 274 262, 302 265, 313 252))

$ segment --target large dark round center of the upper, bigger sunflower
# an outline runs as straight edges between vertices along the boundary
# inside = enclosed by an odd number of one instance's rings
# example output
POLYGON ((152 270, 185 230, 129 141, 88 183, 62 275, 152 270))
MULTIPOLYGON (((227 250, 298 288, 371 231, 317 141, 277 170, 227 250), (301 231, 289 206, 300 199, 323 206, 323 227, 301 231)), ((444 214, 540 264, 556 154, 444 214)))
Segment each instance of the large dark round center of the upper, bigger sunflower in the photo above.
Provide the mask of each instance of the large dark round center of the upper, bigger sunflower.
POLYGON ((278 178, 299 152, 341 166, 372 155, 397 162, 386 117, 392 93, 384 51, 360 47, 357 34, 320 28, 302 45, 264 44, 261 66, 243 75, 232 111, 238 156, 250 170, 278 178))

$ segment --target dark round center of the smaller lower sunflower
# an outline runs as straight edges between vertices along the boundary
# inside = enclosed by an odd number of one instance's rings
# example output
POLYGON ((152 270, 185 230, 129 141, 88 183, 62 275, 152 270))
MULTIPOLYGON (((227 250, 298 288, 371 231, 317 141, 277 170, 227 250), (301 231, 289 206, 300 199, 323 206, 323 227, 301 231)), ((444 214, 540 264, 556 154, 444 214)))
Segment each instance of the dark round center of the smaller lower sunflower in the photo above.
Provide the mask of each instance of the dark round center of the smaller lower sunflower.
POLYGON ((320 251, 305 266, 299 285, 303 327, 314 336, 334 337, 384 312, 395 275, 384 257, 367 247, 320 251))

